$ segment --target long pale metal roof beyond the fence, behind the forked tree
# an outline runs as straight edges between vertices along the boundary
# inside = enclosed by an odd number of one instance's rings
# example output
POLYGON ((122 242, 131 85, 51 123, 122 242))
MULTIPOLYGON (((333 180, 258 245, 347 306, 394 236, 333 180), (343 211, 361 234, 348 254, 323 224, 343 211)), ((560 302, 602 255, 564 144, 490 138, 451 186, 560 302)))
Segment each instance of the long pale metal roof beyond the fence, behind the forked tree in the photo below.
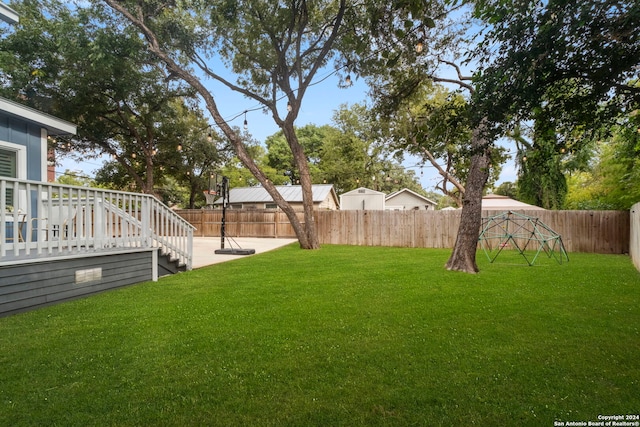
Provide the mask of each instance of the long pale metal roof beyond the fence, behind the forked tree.
MULTIPOLYGON (((302 203, 302 186, 301 185, 276 185, 278 193, 287 202, 300 202, 302 203)), ((312 185, 311 191, 313 195, 313 202, 320 203, 331 196, 336 205, 338 204, 338 198, 336 192, 333 189, 332 184, 318 184, 312 185)), ((267 193, 267 190, 262 187, 236 187, 229 191, 229 203, 269 203, 273 202, 273 198, 267 193)), ((215 204, 222 203, 220 199, 214 202, 215 204)))

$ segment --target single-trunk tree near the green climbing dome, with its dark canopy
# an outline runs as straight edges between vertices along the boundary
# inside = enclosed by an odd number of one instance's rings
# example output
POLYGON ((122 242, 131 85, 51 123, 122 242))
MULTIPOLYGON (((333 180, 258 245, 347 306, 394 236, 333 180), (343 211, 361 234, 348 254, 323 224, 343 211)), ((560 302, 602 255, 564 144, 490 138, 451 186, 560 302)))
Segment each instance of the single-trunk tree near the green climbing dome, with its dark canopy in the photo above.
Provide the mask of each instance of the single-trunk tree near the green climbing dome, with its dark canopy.
POLYGON ((392 96, 382 98, 392 107, 425 80, 467 91, 473 129, 470 168, 447 268, 475 272, 482 192, 494 141, 534 116, 547 122, 545 129, 589 122, 600 128, 620 109, 637 106, 640 92, 630 81, 637 78, 640 63, 640 5, 630 0, 477 1, 479 21, 469 28, 482 30, 478 49, 468 48, 467 33, 464 28, 456 32, 460 27, 455 22, 433 20, 454 15, 445 10, 434 15, 431 6, 406 0, 370 9, 372 43, 382 51, 360 63, 359 70, 382 82, 378 87, 393 89, 392 96), (462 57, 476 61, 473 76, 461 72, 462 57), (443 75, 442 64, 455 73, 443 75))

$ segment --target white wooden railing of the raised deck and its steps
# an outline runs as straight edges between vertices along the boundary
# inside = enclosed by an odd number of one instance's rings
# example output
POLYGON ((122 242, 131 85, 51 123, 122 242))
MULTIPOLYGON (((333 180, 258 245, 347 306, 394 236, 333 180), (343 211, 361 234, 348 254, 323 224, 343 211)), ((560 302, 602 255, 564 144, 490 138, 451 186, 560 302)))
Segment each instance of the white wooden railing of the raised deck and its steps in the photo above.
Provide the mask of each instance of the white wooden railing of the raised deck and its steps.
POLYGON ((193 230, 148 194, 0 177, 0 261, 157 247, 190 270, 193 230))

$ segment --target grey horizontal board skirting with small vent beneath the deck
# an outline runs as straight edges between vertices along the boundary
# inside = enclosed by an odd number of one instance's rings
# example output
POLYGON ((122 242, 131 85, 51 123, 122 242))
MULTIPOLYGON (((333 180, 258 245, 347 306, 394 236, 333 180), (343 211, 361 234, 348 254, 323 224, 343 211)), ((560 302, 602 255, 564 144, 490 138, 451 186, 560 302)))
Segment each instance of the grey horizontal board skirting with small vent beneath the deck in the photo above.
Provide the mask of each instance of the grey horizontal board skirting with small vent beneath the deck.
POLYGON ((153 255, 146 250, 0 266, 0 316, 152 280, 153 255))

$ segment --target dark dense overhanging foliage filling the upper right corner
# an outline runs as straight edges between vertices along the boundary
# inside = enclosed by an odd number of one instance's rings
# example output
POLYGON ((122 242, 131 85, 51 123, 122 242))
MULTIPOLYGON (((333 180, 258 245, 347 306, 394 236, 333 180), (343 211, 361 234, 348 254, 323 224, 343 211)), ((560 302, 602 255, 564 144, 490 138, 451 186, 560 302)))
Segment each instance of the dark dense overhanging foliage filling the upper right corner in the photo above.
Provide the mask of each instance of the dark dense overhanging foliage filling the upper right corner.
POLYGON ((558 129, 601 123, 640 102, 637 1, 475 5, 488 29, 474 52, 478 118, 503 129, 535 117, 558 129))

